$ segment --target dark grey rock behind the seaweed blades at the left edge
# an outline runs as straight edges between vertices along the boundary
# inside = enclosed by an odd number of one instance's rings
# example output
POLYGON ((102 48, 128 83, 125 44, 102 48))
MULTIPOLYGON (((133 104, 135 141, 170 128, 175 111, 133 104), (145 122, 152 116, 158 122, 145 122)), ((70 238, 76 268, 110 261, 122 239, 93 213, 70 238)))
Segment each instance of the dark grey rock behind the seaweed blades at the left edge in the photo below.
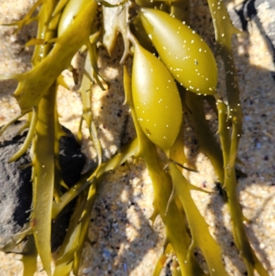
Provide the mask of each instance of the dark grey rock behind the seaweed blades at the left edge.
MULTIPOLYGON (((11 156, 21 147, 27 131, 18 135, 23 122, 11 125, 0 138, 0 244, 20 231, 28 222, 32 205, 32 167, 29 164, 30 152, 27 151, 19 160, 8 163, 11 156)), ((85 165, 86 157, 81 152, 74 135, 69 129, 63 130, 67 136, 60 140, 61 174, 68 187, 72 187, 80 179, 80 173, 85 165)), ((52 223, 52 251, 63 242, 69 219, 74 209, 74 201, 52 223)))

